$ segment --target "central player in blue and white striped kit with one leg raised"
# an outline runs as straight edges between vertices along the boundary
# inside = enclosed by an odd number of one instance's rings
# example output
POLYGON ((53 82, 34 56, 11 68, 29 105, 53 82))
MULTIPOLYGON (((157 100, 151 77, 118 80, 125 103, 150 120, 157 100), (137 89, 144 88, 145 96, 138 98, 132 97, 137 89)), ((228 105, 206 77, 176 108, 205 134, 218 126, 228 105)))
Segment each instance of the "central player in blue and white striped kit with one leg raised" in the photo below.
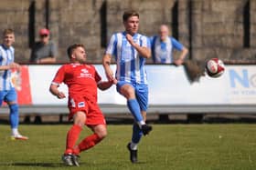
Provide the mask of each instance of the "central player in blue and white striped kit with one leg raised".
POLYGON ((109 80, 117 81, 117 91, 127 100, 127 106, 134 117, 132 141, 127 147, 132 163, 137 162, 137 146, 142 135, 148 135, 152 126, 145 124, 148 106, 148 85, 144 63, 151 57, 150 42, 138 32, 139 14, 135 11, 123 13, 125 31, 113 34, 102 65, 109 80), (115 56, 117 65, 115 77, 111 65, 115 56))

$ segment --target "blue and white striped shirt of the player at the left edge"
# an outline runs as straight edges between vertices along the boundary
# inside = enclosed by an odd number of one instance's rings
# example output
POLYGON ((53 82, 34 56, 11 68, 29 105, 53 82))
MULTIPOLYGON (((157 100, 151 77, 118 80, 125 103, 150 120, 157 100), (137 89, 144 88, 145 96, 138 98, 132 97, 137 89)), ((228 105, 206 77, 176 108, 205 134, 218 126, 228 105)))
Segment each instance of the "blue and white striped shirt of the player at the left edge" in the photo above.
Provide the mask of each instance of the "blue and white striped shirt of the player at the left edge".
MULTIPOLYGON (((14 47, 5 47, 0 45, 0 65, 10 65, 15 59, 15 49, 14 47)), ((0 70, 0 90, 10 90, 14 87, 11 80, 11 70, 0 70)))

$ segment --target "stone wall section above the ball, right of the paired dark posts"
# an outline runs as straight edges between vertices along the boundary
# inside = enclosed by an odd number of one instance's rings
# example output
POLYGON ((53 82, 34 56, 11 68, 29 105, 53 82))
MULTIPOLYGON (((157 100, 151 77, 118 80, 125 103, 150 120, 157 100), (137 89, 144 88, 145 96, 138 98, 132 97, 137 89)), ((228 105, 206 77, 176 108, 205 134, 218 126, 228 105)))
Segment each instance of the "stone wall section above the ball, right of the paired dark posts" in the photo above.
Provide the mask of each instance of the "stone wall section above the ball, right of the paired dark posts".
POLYGON ((192 57, 256 60, 255 1, 197 1, 192 6, 192 57), (250 14, 250 15, 249 15, 250 14), (250 20, 249 20, 250 19, 250 20))

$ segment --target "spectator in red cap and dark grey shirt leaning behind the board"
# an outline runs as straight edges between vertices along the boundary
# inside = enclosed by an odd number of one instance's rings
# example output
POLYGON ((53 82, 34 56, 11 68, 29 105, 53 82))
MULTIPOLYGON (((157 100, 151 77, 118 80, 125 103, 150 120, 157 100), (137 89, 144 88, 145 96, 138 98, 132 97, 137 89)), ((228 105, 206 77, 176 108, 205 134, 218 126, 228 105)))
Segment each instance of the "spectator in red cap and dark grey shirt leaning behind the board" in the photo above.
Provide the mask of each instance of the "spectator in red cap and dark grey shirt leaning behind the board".
POLYGON ((42 28, 39 31, 40 41, 32 47, 30 63, 52 64, 56 63, 57 47, 49 40, 49 30, 42 28))

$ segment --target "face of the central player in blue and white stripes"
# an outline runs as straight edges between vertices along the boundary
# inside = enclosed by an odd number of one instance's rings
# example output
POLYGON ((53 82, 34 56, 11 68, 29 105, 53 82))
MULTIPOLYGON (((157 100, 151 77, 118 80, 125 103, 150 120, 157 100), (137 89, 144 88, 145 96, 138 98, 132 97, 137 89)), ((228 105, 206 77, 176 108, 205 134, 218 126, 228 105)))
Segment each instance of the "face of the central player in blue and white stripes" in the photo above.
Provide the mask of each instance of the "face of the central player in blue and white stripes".
POLYGON ((127 19, 127 21, 123 22, 123 25, 127 33, 134 35, 138 32, 139 29, 139 17, 131 16, 127 19))

